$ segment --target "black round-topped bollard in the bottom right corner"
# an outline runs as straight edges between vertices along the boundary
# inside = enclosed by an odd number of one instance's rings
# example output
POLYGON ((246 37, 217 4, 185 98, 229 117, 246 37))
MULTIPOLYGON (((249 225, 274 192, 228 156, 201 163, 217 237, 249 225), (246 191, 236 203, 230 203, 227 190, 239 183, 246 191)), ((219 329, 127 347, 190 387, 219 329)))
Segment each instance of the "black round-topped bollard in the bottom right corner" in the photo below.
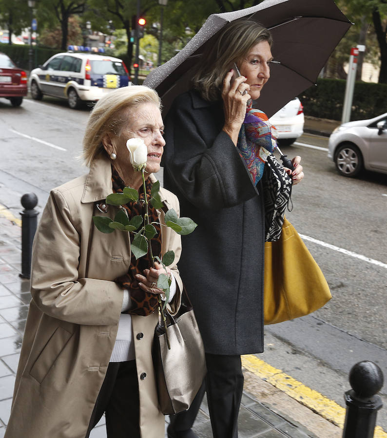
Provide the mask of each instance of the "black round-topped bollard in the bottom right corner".
POLYGON ((349 372, 351 390, 345 393, 347 404, 343 438, 372 438, 376 415, 382 399, 376 395, 383 386, 383 373, 370 361, 358 362, 349 372))

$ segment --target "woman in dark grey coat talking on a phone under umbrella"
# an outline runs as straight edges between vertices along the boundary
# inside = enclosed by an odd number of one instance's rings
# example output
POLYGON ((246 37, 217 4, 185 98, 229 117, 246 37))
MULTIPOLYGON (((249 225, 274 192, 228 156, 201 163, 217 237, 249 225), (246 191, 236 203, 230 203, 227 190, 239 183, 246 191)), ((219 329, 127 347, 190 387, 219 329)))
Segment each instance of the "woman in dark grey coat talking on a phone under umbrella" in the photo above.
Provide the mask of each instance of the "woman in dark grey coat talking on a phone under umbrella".
MULTIPOLYGON (((178 196, 182 214, 198 224, 194 237, 183 238, 179 269, 206 350, 215 438, 237 437, 240 355, 263 351, 261 177, 272 142, 269 135, 266 147, 249 144, 243 124, 247 110, 259 108, 269 80, 271 43, 269 31, 256 22, 225 26, 203 54, 192 90, 175 99, 166 120, 164 186, 178 196)), ((260 114, 257 126, 267 130, 266 115, 254 112, 260 114)), ((293 184, 304 176, 300 160, 295 157, 295 170, 289 170, 293 184)), ((202 396, 203 391, 188 412, 171 418, 168 437, 196 437, 191 426, 202 396)))

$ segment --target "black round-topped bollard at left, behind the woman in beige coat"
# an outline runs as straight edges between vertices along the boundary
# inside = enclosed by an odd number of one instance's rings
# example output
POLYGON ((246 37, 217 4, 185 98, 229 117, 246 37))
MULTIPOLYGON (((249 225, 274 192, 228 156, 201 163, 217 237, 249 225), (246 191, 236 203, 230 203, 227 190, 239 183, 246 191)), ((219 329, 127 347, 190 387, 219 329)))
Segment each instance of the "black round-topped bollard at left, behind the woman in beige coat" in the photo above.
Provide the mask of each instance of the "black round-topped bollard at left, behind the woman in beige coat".
POLYGON ((21 216, 21 274, 22 278, 31 276, 31 255, 32 242, 34 240, 37 227, 38 211, 34 208, 38 204, 38 197, 35 193, 26 193, 20 199, 24 210, 20 212, 21 216))

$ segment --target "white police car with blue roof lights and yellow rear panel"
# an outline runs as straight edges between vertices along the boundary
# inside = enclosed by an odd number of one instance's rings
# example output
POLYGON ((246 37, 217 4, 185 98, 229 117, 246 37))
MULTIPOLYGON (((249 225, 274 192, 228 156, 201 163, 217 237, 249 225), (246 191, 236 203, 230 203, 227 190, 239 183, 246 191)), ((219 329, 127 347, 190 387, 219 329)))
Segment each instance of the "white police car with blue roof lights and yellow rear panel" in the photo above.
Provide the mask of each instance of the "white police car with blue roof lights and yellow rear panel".
POLYGON ((73 109, 128 85, 132 82, 121 59, 94 53, 58 53, 29 77, 33 99, 41 100, 45 94, 60 97, 73 109))

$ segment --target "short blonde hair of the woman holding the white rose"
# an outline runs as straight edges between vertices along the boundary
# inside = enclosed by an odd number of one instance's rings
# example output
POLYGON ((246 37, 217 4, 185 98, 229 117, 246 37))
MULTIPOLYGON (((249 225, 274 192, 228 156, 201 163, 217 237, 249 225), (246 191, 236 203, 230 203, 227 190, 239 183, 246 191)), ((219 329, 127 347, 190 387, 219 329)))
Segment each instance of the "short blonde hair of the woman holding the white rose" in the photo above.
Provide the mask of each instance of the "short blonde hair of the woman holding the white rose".
POLYGON ((161 100, 156 91, 143 85, 118 88, 98 100, 83 136, 84 164, 90 167, 99 155, 105 153, 103 137, 108 133, 119 135, 127 122, 128 110, 148 102, 154 103, 161 110, 161 100))

